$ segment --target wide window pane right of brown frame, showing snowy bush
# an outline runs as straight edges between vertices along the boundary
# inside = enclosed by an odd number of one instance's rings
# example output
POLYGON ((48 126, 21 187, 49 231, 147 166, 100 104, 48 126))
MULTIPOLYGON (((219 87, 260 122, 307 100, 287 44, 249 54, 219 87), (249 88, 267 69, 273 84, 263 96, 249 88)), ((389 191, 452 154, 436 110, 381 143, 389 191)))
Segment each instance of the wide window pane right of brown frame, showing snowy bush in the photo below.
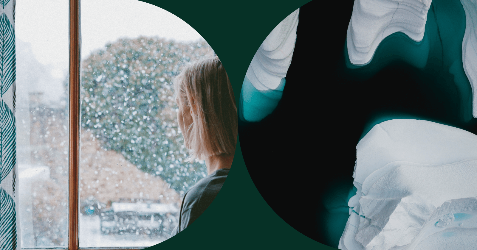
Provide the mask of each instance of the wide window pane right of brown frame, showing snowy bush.
POLYGON ((187 23, 136 0, 82 0, 80 247, 166 240, 207 171, 187 163, 171 80, 212 55, 187 23))

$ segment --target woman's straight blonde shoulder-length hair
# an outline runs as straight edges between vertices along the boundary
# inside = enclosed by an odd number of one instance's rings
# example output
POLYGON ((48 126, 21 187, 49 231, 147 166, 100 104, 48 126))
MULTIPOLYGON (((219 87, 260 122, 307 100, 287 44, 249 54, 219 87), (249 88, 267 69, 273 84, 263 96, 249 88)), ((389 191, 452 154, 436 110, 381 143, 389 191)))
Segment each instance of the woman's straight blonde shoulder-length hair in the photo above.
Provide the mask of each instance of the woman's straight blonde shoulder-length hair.
POLYGON ((185 67, 174 79, 174 90, 182 105, 193 110, 193 122, 186 128, 190 146, 187 161, 235 153, 237 106, 227 72, 218 57, 185 67))

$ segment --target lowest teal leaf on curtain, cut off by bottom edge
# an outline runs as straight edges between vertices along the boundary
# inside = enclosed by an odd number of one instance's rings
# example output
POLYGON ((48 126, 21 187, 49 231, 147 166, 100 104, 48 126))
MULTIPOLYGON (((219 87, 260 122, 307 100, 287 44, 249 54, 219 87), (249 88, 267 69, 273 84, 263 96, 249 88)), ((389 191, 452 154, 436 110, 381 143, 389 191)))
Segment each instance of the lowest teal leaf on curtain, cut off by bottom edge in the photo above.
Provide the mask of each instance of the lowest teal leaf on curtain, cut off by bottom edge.
POLYGON ((0 250, 15 250, 17 242, 17 215, 15 202, 0 187, 0 250))

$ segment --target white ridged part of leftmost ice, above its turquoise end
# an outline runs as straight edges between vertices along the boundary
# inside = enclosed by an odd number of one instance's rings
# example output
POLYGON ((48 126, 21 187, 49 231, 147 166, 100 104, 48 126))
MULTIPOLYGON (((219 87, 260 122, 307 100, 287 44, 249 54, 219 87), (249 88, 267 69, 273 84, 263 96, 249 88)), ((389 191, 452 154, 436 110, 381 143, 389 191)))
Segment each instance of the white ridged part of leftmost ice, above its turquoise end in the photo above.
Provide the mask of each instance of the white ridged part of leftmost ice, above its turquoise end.
POLYGON ((298 12, 273 29, 253 56, 246 77, 257 90, 275 90, 287 75, 297 38, 298 12))

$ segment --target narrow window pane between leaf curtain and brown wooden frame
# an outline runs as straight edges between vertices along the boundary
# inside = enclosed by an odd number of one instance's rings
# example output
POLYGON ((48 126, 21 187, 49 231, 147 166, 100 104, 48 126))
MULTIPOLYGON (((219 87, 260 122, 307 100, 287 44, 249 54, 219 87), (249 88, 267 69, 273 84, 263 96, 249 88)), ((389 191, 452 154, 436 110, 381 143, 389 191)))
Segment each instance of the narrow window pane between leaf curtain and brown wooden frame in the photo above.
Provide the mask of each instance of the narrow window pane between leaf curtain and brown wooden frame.
POLYGON ((16 2, 22 247, 68 245, 68 1, 16 2))

